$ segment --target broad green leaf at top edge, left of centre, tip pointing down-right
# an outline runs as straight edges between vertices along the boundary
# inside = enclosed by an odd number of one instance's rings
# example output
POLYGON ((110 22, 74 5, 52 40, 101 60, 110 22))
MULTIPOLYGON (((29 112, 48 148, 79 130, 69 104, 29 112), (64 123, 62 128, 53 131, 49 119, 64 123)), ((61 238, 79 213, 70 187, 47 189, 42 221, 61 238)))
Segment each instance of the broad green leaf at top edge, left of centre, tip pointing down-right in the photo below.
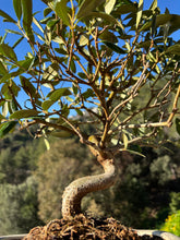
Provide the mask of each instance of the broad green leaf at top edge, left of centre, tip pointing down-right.
POLYGON ((55 12, 57 15, 62 20, 62 22, 70 26, 70 17, 68 15, 68 7, 67 7, 68 0, 56 0, 55 1, 55 12))

